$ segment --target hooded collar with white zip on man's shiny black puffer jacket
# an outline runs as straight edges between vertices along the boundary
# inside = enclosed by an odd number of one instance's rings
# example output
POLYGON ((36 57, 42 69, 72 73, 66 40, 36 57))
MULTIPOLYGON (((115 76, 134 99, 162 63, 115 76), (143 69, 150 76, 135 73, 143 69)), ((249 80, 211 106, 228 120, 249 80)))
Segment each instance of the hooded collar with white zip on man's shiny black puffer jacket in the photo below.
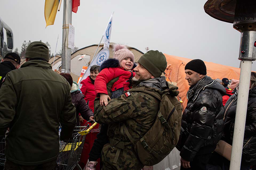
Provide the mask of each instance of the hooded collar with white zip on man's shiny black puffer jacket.
POLYGON ((189 91, 187 91, 187 100, 195 101, 199 95, 199 92, 205 90, 205 88, 213 88, 218 90, 223 95, 226 94, 226 90, 221 84, 211 79, 209 76, 205 76, 204 78, 199 80, 194 86, 190 86, 189 91))

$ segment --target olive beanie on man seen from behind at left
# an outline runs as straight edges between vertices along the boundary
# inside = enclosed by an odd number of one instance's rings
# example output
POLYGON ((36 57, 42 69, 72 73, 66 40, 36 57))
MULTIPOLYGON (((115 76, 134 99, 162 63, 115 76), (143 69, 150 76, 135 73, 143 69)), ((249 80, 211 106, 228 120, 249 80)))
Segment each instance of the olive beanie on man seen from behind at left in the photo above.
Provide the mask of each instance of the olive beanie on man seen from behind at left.
POLYGON ((25 57, 44 58, 46 61, 49 61, 49 49, 45 43, 34 41, 27 47, 25 57))

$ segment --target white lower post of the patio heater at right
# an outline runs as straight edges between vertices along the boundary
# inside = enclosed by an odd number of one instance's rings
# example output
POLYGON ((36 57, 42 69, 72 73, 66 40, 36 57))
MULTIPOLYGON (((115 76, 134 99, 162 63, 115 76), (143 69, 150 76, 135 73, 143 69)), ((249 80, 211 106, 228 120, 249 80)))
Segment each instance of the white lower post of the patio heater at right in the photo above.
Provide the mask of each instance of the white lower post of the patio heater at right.
POLYGON ((235 114, 235 128, 232 143, 232 152, 230 160, 230 170, 240 170, 243 135, 245 133, 245 120, 249 95, 251 77, 251 60, 243 60, 241 62, 239 90, 237 98, 237 109, 235 114))

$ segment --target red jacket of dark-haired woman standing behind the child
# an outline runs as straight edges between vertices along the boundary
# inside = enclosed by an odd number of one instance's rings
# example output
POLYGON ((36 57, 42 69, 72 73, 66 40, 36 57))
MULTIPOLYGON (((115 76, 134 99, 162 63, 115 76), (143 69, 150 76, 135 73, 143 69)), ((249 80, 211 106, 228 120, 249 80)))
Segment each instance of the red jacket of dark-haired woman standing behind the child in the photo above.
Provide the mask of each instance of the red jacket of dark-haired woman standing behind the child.
POLYGON ((80 90, 85 95, 86 103, 89 101, 89 108, 94 112, 95 89, 94 84, 91 82, 90 76, 81 81, 80 90))

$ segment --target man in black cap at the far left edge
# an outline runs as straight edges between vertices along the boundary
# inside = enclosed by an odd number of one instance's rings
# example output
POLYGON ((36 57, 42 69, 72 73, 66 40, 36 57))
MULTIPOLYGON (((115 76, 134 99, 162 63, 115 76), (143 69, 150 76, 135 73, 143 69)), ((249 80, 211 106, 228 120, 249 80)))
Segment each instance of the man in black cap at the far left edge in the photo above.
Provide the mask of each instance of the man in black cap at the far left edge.
POLYGON ((11 70, 18 69, 21 64, 21 58, 16 53, 8 53, 0 63, 0 88, 5 80, 5 75, 11 70))

